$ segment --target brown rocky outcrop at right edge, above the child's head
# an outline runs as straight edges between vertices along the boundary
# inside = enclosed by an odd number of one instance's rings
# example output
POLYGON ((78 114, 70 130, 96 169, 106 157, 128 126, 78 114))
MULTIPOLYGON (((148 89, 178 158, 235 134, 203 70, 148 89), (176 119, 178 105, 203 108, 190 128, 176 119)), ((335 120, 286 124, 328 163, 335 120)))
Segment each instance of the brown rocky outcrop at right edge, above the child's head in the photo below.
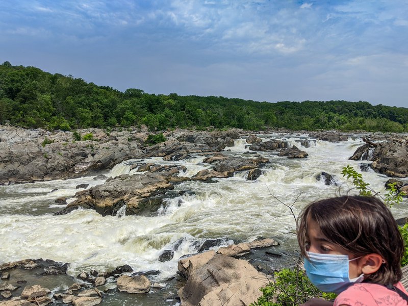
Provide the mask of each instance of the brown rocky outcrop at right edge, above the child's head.
POLYGON ((393 138, 378 143, 363 140, 366 144, 359 147, 350 159, 366 158, 373 161, 371 168, 379 173, 408 177, 408 137, 393 138))

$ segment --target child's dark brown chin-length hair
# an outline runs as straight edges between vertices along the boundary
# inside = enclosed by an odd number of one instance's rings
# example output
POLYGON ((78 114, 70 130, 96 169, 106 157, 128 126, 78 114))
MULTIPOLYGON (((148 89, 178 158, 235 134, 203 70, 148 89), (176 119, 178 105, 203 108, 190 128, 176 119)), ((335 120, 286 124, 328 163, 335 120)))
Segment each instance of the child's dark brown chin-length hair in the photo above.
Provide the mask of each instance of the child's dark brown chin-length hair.
POLYGON ((327 240, 355 256, 377 253, 385 260, 364 281, 396 284, 400 281, 404 241, 390 210, 373 196, 341 196, 305 207, 297 222, 300 251, 307 257, 308 219, 316 221, 327 240))

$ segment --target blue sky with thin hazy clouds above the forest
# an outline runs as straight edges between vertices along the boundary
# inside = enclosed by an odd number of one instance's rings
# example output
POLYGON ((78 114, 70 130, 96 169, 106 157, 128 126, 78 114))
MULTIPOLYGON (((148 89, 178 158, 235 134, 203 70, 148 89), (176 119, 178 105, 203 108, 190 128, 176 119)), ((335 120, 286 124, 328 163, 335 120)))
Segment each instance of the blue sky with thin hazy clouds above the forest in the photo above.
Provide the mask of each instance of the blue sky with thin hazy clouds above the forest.
POLYGON ((408 107, 408 1, 1 0, 4 61, 120 91, 408 107))

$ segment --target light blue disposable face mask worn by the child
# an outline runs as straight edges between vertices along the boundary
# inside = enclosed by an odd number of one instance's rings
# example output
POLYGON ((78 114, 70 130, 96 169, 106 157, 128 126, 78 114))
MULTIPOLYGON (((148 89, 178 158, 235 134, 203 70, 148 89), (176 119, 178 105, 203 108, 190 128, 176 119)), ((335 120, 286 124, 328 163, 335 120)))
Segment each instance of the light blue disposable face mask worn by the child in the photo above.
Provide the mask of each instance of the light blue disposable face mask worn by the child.
POLYGON ((364 274, 350 279, 348 263, 361 257, 348 260, 347 255, 319 254, 308 252, 304 258, 304 269, 310 281, 323 292, 339 294, 354 283, 361 283, 364 274))

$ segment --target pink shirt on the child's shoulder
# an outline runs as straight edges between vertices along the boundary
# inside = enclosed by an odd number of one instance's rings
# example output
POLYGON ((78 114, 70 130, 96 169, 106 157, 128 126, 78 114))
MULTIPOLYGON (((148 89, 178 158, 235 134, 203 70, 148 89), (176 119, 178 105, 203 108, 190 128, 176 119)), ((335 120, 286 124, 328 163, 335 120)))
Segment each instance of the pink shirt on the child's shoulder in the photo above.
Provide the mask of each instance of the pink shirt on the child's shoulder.
MULTIPOLYGON (((408 295, 404 287, 398 282, 395 287, 408 295)), ((393 290, 385 286, 371 283, 354 284, 335 299, 334 306, 406 306, 406 301, 393 290)))

